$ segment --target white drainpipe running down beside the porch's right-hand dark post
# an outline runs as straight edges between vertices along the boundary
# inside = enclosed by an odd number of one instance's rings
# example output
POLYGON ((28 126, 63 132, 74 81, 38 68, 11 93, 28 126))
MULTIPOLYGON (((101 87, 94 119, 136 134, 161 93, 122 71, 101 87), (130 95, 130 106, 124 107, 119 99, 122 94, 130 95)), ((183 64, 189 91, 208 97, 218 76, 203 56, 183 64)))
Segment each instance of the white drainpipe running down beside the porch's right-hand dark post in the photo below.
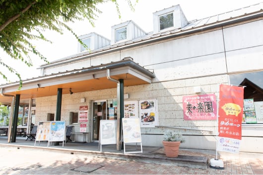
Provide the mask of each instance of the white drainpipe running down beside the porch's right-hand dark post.
POLYGON ((120 81, 111 78, 110 69, 107 69, 107 79, 117 83, 117 151, 120 151, 121 150, 120 81))

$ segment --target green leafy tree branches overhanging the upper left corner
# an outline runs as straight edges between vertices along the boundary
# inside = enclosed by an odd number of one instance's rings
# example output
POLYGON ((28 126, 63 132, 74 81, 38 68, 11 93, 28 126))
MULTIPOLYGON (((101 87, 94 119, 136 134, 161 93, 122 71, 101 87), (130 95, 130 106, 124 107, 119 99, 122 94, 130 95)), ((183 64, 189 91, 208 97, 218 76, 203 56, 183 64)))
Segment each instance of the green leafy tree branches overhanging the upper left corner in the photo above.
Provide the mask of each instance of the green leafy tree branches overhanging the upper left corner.
MULTIPOLYGON (((0 0, 0 47, 11 58, 20 60, 29 67, 33 65, 29 57, 30 53, 48 63, 48 59, 31 41, 43 40, 52 43, 44 36, 47 29, 60 34, 66 29, 78 39, 66 23, 88 20, 94 26, 94 20, 101 13, 96 6, 108 1, 115 3, 121 17, 117 0, 0 0)), ((132 1, 127 0, 127 2, 133 10, 132 1)), ((78 41, 83 44, 79 39, 78 41)), ((0 65, 19 78, 21 88, 20 74, 1 58, 0 65)), ((8 81, 8 77, 1 69, 0 76, 8 81)))

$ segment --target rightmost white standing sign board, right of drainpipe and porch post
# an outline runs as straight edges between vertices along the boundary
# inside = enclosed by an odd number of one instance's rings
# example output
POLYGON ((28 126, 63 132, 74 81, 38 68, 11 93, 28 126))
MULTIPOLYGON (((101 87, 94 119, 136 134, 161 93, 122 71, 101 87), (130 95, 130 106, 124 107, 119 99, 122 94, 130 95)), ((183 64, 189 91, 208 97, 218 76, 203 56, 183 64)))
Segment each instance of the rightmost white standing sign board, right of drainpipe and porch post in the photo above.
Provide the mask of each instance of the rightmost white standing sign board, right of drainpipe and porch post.
MULTIPOLYGON (((126 143, 140 143, 141 150, 139 152, 142 153, 139 119, 123 118, 122 122, 123 122, 124 153, 126 153, 126 149, 125 149, 126 143)), ((137 153, 137 152, 129 152, 129 153, 137 153)))

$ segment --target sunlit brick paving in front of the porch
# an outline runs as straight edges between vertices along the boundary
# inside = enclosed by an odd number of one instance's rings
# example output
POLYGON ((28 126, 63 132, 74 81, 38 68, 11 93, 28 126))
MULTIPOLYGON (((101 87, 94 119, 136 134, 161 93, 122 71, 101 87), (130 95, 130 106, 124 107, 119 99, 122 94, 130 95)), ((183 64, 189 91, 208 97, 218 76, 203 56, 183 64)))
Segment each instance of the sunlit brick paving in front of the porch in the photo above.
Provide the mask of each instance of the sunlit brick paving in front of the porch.
MULTIPOLYGON (((0 147, 0 151, 1 175, 263 175, 263 159, 253 156, 221 156, 225 169, 217 170, 15 147, 0 147)), ((180 153, 205 155, 191 151, 180 153)))

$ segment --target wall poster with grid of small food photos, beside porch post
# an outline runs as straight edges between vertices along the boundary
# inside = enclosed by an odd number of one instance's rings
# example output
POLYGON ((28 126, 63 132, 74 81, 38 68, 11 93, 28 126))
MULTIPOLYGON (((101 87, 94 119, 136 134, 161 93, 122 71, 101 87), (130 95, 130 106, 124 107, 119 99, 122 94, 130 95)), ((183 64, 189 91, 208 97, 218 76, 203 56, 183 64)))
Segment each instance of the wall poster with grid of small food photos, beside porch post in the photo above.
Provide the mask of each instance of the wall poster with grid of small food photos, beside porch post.
POLYGON ((124 101, 124 117, 138 118, 138 101, 124 101))

